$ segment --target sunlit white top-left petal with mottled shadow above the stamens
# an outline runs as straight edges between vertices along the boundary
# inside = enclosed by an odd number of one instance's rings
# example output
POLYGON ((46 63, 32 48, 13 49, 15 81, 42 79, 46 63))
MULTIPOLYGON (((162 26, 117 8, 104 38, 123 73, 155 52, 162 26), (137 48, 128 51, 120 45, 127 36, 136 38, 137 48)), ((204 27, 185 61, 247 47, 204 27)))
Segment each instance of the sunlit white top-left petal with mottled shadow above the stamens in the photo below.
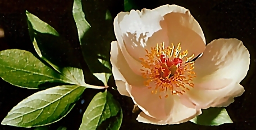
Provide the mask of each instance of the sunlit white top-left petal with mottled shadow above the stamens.
POLYGON ((125 46, 136 60, 145 57, 145 49, 150 50, 156 44, 165 42, 168 46, 167 26, 162 20, 158 12, 150 9, 142 9, 141 12, 131 10, 119 23, 124 40, 124 45, 120 46, 125 46))

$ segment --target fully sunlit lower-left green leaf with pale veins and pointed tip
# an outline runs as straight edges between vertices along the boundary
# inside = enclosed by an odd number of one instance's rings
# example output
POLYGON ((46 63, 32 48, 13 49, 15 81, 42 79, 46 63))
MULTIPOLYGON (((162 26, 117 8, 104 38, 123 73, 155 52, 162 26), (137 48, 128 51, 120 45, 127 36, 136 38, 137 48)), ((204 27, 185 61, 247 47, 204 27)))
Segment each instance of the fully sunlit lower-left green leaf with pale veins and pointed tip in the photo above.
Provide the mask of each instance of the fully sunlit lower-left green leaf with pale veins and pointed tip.
POLYGON ((1 124, 29 128, 60 121, 84 90, 79 85, 62 85, 37 92, 13 107, 1 124))

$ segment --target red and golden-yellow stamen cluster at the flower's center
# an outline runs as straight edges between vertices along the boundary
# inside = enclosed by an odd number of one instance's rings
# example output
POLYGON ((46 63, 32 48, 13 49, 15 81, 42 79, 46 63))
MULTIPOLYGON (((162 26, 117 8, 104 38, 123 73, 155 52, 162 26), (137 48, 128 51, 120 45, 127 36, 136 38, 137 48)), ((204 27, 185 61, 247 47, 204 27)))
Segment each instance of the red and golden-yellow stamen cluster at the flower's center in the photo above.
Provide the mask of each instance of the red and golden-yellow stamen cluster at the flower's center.
MULTIPOLYGON (((186 90, 190 90, 190 87, 194 87, 194 61, 189 61, 194 54, 187 57, 188 50, 181 52, 180 43, 175 49, 173 44, 164 47, 163 42, 146 52, 145 59, 140 59, 143 66, 141 74, 143 78, 148 79, 145 85, 153 89, 152 93, 164 92, 164 97, 167 98, 169 92, 184 94, 186 90), (154 88, 150 83, 154 84, 154 88)), ((162 98, 161 95, 159 98, 162 98)))

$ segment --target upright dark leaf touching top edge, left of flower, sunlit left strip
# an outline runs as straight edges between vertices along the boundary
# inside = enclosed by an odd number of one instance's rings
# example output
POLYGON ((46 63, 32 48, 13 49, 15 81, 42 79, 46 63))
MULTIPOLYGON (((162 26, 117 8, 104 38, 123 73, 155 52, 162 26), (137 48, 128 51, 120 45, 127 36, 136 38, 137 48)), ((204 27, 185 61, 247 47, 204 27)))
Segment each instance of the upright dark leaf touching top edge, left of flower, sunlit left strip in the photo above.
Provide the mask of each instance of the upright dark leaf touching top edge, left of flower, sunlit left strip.
MULTIPOLYGON (((107 1, 106 1, 107 2, 107 1)), ((92 73, 111 73, 105 65, 98 59, 109 62, 110 43, 113 41, 113 23, 110 12, 107 9, 95 9, 99 4, 105 5, 99 1, 83 1, 75 0, 73 5, 73 17, 76 22, 78 38, 86 64, 92 73), (90 6, 93 5, 93 6, 90 6), (87 11, 84 13, 83 11, 87 11), (89 14, 89 15, 88 15, 89 14), (86 20, 85 20, 85 16, 86 20), (87 22, 89 18, 93 18, 92 23, 87 22), (106 20, 107 17, 107 20, 106 20), (97 34, 97 35, 96 35, 97 34)))

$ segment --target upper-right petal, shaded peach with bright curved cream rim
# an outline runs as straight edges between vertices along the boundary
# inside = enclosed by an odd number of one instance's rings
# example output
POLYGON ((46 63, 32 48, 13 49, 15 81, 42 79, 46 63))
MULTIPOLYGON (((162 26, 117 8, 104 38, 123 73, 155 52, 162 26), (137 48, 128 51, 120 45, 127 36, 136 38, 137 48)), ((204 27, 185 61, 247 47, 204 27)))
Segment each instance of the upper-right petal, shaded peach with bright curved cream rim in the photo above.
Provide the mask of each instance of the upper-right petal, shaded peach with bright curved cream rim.
POLYGON ((198 56, 204 51, 203 30, 188 9, 167 4, 153 9, 153 11, 159 12, 167 23, 170 43, 175 46, 181 43, 182 51, 189 51, 188 56, 192 54, 198 56))

